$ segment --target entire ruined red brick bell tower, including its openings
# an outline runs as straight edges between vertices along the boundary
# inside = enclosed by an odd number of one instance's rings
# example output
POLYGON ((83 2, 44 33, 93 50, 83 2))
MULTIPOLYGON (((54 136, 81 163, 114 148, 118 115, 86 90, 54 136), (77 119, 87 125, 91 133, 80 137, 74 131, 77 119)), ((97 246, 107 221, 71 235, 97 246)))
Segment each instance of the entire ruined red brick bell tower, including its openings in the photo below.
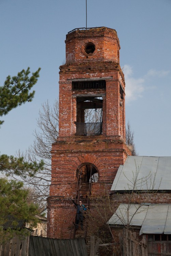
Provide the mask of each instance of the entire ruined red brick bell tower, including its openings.
POLYGON ((52 145, 47 199, 47 236, 60 239, 73 238, 76 211, 71 196, 87 205, 104 187, 110 191, 119 165, 131 154, 125 145, 125 80, 116 31, 75 29, 65 42, 59 137, 52 145))

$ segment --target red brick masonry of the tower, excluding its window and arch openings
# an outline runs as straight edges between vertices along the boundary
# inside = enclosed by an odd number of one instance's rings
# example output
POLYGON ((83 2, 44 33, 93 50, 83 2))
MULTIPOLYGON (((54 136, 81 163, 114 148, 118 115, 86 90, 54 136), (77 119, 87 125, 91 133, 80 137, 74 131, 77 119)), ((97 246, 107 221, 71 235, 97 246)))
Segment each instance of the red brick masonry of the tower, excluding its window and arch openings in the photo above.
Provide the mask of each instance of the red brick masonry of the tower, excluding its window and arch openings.
MULTIPOLYGON (((71 196, 76 193, 76 170, 83 163, 96 166, 97 183, 92 184, 96 197, 109 191, 120 164, 130 151, 125 145, 125 104, 120 106, 119 86, 125 89, 119 66, 119 40, 115 30, 101 28, 76 30, 67 35, 66 64, 60 66, 59 137, 52 145, 52 182, 48 202, 47 236, 70 238, 75 208, 71 196), (85 53, 87 42, 96 46, 85 53), (71 79, 106 79, 106 89, 72 91, 71 79), (75 136, 76 95, 103 95, 103 125, 99 136, 75 136)), ((84 202, 84 198, 82 200, 84 202)))

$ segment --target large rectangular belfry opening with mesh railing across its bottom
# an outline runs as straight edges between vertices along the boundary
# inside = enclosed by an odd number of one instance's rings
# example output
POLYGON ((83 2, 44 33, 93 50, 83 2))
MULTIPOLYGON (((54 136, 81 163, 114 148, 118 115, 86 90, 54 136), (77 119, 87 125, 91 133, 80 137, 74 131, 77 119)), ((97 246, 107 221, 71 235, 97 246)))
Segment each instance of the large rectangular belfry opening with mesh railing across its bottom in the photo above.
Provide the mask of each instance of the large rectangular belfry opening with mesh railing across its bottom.
POLYGON ((102 97, 77 97, 75 135, 102 134, 102 108, 102 97))

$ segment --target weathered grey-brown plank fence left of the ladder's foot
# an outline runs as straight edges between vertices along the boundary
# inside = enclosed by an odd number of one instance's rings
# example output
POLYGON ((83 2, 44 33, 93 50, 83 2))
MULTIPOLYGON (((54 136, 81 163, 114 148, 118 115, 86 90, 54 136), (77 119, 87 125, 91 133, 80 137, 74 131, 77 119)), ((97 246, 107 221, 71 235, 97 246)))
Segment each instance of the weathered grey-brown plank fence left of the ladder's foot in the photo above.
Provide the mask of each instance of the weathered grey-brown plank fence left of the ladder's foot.
POLYGON ((14 237, 1 243, 0 256, 88 256, 85 240, 14 237))

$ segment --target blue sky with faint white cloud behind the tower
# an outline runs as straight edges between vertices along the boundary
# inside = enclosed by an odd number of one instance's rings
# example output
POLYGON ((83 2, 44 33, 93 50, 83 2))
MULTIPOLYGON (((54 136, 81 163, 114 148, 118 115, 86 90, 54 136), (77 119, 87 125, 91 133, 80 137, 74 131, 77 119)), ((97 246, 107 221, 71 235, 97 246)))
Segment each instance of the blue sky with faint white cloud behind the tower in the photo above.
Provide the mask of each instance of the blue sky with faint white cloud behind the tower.
MULTIPOLYGON (((126 121, 139 155, 170 156, 171 0, 87 0, 87 27, 117 31, 126 81, 126 121)), ((58 97, 68 31, 85 27, 85 0, 0 0, 0 85, 41 67, 35 97, 3 117, 1 154, 32 144, 41 103, 58 97)))

